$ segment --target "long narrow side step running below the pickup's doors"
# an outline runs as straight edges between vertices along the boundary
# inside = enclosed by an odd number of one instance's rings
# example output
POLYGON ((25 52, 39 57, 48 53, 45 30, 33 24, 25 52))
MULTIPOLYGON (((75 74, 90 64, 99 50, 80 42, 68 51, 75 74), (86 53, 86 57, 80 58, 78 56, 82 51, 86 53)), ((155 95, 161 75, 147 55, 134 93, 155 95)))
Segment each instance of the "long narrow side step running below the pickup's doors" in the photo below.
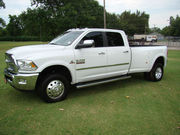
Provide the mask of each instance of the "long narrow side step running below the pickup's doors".
POLYGON ((79 83, 76 85, 76 87, 77 88, 85 88, 85 87, 95 86, 95 85, 99 85, 99 84, 103 84, 103 83, 114 82, 114 81, 118 81, 118 80, 124 80, 124 79, 128 79, 128 78, 131 78, 131 76, 126 75, 126 76, 120 76, 120 77, 115 77, 115 78, 101 79, 101 80, 97 80, 97 81, 79 83))

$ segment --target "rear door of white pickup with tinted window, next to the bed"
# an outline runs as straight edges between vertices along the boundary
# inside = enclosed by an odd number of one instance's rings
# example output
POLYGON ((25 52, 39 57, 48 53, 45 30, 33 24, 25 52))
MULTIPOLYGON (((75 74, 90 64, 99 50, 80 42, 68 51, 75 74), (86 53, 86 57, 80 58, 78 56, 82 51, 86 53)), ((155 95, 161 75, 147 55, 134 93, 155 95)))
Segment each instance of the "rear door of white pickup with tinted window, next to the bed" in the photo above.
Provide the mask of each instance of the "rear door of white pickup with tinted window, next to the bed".
POLYGON ((128 73, 130 67, 130 48, 125 46, 121 33, 106 32, 107 70, 112 76, 128 73))

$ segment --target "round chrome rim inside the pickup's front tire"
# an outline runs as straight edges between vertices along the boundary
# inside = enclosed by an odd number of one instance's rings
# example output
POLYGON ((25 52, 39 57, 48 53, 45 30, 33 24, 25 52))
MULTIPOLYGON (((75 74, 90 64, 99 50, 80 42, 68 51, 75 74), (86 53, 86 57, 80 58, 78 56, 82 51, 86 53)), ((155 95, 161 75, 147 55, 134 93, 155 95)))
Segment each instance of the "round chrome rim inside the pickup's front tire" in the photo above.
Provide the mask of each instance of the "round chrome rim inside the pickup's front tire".
POLYGON ((63 95, 64 89, 64 84, 60 80, 53 80, 48 84, 46 92, 49 98, 57 99, 63 95))

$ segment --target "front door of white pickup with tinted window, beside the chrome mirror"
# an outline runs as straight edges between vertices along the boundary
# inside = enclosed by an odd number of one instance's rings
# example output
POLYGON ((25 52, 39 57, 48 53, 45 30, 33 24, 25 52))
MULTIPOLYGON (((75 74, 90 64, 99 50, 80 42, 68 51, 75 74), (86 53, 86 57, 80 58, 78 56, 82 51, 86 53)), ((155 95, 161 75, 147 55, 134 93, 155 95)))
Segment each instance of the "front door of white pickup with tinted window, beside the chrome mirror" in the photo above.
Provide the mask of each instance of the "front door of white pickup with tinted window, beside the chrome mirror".
POLYGON ((103 33, 90 32, 80 43, 84 40, 94 40, 95 44, 91 48, 75 49, 76 80, 86 82, 102 79, 107 73, 107 50, 104 47, 103 33))

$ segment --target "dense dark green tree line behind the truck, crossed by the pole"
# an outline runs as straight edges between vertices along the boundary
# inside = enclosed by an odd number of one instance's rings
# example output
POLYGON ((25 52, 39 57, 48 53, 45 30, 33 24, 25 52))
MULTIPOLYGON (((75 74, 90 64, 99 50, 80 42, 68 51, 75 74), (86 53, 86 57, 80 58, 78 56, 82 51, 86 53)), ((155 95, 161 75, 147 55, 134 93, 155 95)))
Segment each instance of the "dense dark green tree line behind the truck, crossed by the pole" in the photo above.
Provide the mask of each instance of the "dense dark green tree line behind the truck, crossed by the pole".
MULTIPOLYGON (((18 16, 9 16, 6 27, 10 36, 34 36, 51 40, 71 28, 103 28, 103 7, 96 0, 31 0, 18 16)), ((121 15, 107 12, 107 28, 123 29, 129 35, 148 29, 149 15, 125 11, 121 15)))

